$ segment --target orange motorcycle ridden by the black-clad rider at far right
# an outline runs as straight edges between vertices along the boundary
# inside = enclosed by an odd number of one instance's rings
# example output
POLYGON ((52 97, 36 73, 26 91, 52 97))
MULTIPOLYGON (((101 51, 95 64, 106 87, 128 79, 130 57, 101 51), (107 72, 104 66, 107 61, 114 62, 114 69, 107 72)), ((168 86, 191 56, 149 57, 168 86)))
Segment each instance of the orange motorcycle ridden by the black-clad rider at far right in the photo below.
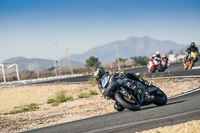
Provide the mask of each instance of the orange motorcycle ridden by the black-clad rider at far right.
POLYGON ((194 63, 198 60, 197 54, 194 52, 191 52, 191 54, 188 55, 188 57, 185 59, 184 69, 190 70, 194 66, 194 63))

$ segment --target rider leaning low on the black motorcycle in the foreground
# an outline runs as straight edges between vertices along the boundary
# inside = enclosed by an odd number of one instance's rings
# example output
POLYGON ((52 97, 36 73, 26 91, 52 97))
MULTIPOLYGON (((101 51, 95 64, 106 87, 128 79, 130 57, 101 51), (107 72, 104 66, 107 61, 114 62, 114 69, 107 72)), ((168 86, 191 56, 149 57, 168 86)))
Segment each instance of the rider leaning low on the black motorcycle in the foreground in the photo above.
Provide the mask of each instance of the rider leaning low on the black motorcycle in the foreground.
MULTIPOLYGON (((102 67, 96 68, 95 71, 93 72, 93 76, 98 83, 98 88, 99 88, 101 93, 102 93, 102 90, 103 90, 103 87, 102 87, 102 84, 101 84, 101 78, 103 77, 103 75, 105 75, 107 73, 109 73, 109 72, 105 72, 105 70, 102 67)), ((146 85, 148 87, 150 87, 152 85, 151 82, 148 82, 148 81, 140 78, 135 73, 126 73, 125 74, 124 72, 116 71, 116 72, 111 73, 111 74, 113 74, 115 76, 125 75, 127 78, 139 81, 139 82, 143 83, 144 85, 146 85)))

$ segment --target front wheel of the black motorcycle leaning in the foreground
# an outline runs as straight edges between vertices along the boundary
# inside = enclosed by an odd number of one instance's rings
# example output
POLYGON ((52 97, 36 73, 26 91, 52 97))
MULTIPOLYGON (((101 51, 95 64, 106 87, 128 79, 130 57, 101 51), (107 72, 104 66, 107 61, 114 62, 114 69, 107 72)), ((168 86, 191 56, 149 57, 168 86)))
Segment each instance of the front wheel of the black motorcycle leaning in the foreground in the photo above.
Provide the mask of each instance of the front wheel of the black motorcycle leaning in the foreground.
POLYGON ((115 93, 115 99, 121 106, 127 108, 128 110, 137 111, 140 110, 140 103, 137 100, 128 100, 128 97, 124 96, 120 92, 115 93))

